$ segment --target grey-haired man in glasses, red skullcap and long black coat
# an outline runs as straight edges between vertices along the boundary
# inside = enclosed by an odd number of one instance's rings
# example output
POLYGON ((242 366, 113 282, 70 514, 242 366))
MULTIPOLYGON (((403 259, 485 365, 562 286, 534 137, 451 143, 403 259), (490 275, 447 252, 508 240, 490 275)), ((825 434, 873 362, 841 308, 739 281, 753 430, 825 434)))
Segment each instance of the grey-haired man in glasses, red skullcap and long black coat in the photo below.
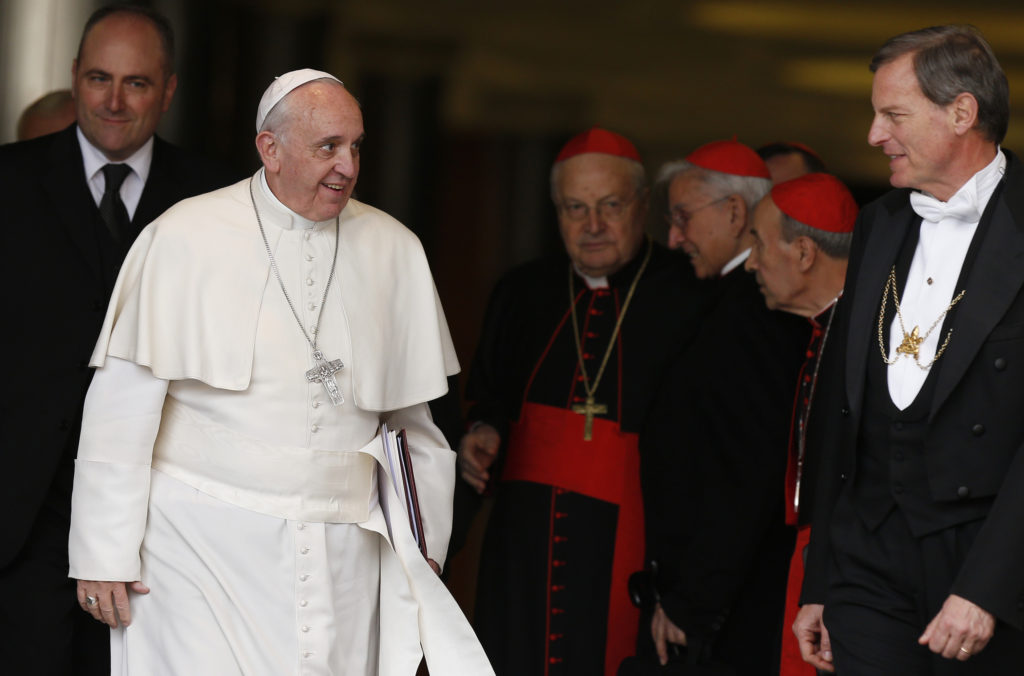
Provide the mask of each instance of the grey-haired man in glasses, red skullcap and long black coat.
POLYGON ((659 604, 638 653, 653 639, 663 663, 675 643, 690 663, 763 676, 778 667, 796 535, 784 514, 790 411, 810 327, 765 307, 743 269, 751 214, 771 188, 752 149, 708 143, 664 167, 660 181, 669 243, 707 280, 711 309, 640 436, 659 604))

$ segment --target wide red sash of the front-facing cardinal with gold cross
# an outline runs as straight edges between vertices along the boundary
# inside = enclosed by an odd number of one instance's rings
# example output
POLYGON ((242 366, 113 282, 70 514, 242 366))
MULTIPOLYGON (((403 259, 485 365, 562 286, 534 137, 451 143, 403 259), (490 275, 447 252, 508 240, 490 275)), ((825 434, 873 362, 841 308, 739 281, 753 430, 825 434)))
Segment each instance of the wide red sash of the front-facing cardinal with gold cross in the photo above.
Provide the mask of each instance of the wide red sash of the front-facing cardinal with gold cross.
POLYGON ((614 676, 618 664, 636 650, 639 622, 628 588, 630 575, 643 568, 639 445, 636 434, 601 418, 594 419, 593 439, 585 441, 583 425, 584 416, 566 409, 523 404, 509 429, 502 480, 534 481, 618 505, 604 651, 605 676, 614 676))

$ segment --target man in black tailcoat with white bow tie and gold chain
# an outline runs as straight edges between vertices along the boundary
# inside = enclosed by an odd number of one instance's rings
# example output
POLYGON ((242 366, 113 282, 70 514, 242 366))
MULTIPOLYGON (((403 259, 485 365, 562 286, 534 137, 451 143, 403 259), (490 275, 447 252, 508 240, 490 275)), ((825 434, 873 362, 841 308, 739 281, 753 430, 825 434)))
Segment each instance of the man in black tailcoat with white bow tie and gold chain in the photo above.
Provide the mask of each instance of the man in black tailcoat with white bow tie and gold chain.
POLYGON ((805 660, 844 675, 1020 673, 1024 168, 998 145, 1009 87, 970 27, 892 38, 871 71, 868 142, 898 189, 854 234, 822 409, 837 469, 794 631, 805 660))

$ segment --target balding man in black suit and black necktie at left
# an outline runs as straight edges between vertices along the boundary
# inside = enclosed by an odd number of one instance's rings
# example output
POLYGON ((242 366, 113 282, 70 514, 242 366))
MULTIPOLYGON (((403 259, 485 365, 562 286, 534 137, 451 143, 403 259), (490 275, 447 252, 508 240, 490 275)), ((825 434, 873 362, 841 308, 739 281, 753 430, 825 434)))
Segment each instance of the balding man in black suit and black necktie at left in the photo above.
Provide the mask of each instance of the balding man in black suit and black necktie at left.
POLYGON ((177 84, 173 58, 165 17, 137 6, 97 10, 72 66, 78 124, 0 147, 8 323, 0 652, 7 673, 110 672, 109 630, 79 609, 68 579, 89 354, 135 235, 175 202, 227 178, 154 136, 177 84))

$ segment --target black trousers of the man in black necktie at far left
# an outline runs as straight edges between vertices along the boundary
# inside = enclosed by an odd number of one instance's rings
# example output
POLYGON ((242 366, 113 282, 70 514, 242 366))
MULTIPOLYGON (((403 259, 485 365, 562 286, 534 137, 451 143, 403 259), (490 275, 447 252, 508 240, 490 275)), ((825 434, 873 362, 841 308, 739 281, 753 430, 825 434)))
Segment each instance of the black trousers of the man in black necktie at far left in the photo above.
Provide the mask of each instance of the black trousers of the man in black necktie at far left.
POLYGON ((44 505, 29 541, 0 571, 0 672, 109 676, 111 631, 78 604, 68 578, 68 517, 44 505))

